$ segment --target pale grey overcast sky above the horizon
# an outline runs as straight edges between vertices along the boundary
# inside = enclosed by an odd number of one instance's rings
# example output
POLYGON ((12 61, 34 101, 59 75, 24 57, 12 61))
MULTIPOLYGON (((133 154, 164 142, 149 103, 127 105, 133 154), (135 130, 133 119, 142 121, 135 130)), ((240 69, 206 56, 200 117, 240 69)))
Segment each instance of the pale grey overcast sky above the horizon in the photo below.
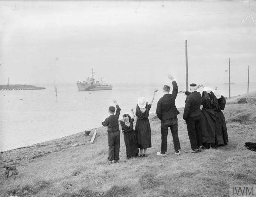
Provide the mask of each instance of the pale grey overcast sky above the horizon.
POLYGON ((75 83, 91 68, 110 83, 168 73, 185 83, 185 40, 189 82, 228 82, 228 57, 231 82, 246 82, 249 64, 255 82, 255 10, 255 1, 0 1, 0 84, 75 83))

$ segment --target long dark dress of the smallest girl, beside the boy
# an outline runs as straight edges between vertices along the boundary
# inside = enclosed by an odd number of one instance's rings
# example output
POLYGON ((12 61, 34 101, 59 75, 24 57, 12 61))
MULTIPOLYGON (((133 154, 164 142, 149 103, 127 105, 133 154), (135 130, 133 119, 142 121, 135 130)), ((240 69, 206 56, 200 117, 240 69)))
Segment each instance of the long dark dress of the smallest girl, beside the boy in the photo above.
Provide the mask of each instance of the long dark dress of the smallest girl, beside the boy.
POLYGON ((128 114, 124 114, 124 116, 128 116, 130 120, 130 126, 125 125, 124 122, 120 122, 122 126, 122 130, 124 131, 124 143, 126 149, 126 157, 127 159, 136 157, 139 155, 138 143, 136 139, 135 132, 133 130, 133 121, 134 119, 131 118, 128 114))

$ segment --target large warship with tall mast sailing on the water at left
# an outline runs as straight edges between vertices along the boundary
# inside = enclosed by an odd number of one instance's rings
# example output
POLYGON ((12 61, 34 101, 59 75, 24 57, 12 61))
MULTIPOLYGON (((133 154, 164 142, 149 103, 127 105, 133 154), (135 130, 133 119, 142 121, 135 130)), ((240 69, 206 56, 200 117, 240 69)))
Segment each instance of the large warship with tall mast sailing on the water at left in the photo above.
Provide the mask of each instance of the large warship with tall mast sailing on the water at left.
POLYGON ((111 84, 104 83, 104 78, 95 81, 95 72, 92 68, 92 77, 87 77, 86 81, 76 81, 78 91, 92 91, 92 90, 112 90, 111 84))

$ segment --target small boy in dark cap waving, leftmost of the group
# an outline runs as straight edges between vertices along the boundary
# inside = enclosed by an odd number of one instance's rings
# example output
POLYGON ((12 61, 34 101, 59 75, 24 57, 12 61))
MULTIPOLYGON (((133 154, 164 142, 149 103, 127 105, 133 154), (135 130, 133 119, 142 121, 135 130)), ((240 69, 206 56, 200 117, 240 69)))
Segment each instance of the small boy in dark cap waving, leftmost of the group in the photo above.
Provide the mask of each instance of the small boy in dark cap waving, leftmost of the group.
POLYGON ((108 126, 108 163, 111 164, 114 160, 114 163, 119 161, 119 148, 120 148, 120 130, 119 130, 119 115, 120 115, 120 107, 117 104, 116 100, 113 99, 116 104, 116 108, 114 106, 109 106, 108 113, 109 117, 107 117, 104 122, 101 124, 103 126, 108 126), (116 110, 116 114, 115 114, 116 110))

